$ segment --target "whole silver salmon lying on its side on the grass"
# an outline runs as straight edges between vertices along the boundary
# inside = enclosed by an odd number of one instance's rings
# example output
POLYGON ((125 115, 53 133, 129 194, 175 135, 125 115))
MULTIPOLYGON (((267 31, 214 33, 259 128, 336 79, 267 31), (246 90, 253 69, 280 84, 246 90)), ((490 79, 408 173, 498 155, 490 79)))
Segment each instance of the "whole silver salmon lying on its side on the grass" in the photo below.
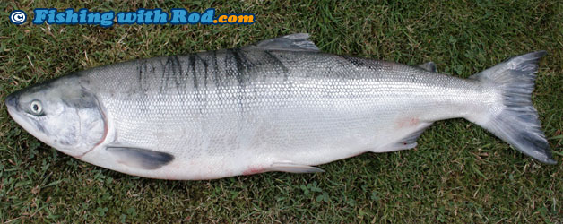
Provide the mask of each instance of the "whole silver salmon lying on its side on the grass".
POLYGON ((434 121, 455 117, 555 164, 531 100, 544 54, 461 79, 433 63, 326 54, 299 33, 71 73, 5 104, 56 150, 140 177, 320 172, 313 166, 414 148, 434 121))

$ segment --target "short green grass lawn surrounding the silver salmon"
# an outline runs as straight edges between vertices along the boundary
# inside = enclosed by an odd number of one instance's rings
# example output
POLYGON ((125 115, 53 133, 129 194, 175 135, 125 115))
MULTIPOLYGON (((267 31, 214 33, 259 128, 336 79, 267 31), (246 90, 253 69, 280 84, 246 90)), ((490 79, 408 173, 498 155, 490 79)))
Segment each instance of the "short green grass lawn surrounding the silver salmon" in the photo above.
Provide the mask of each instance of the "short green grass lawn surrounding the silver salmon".
MULTIPOLYGON (((434 61, 467 77, 533 50, 533 101, 558 165, 525 157, 477 125, 437 122, 411 151, 364 154, 320 174, 265 173, 211 181, 130 177, 94 167, 27 134, 0 104, 0 221, 7 222, 561 222, 563 4, 559 1, 247 1, 199 4, 0 3, 0 99, 98 65, 241 47, 308 32, 323 51, 404 64, 434 61), (498 2, 498 3, 493 3, 498 2), (21 9, 185 7, 256 13, 252 25, 16 26, 21 9)), ((70 2, 70 1, 64 1, 70 2)))

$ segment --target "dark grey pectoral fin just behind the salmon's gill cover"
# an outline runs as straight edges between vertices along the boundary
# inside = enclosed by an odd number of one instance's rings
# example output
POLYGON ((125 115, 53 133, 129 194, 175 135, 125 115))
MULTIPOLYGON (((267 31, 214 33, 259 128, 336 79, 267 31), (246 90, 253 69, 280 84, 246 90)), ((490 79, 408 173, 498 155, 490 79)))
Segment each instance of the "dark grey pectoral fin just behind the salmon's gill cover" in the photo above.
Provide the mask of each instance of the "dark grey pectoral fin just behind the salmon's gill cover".
POLYGON ((174 156, 161 151, 130 147, 108 147, 111 155, 121 164, 132 168, 157 169, 174 160, 174 156))

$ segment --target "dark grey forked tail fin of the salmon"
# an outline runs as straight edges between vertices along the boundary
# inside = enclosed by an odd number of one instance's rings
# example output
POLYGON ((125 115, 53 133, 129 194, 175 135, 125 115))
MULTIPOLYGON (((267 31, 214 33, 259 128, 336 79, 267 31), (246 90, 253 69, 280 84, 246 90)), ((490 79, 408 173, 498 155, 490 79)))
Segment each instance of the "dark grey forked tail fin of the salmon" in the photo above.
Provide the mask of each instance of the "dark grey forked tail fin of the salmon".
POLYGON ((502 96, 502 106, 491 108, 489 117, 474 122, 533 159, 557 164, 531 99, 538 61, 545 54, 545 51, 536 51, 515 56, 472 75, 470 79, 498 88, 502 96))

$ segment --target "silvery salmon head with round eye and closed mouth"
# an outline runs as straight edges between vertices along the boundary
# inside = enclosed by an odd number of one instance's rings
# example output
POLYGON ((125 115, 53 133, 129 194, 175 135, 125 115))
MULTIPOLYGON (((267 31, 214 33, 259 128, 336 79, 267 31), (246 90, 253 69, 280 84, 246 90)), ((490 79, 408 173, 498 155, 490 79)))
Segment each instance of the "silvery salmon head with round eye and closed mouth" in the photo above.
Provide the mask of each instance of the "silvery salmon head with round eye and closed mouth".
POLYGON ((8 113, 27 132, 58 151, 81 157, 104 141, 105 116, 95 94, 77 75, 8 95, 8 113))

